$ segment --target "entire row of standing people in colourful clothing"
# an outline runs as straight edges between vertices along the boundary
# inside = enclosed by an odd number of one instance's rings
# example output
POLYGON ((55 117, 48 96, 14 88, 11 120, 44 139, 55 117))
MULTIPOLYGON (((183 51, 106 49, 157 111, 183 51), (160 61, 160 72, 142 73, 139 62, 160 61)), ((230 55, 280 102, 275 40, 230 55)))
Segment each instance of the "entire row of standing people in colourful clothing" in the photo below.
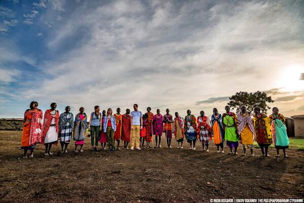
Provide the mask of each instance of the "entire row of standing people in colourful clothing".
MULTIPOLYGON (((200 139, 203 150, 205 150, 206 146, 206 151, 209 151, 209 139, 212 140, 213 137, 214 143, 218 149, 217 152, 219 152, 219 147, 221 147, 223 153, 223 141, 227 140, 227 146, 231 149, 230 153, 237 155, 238 141, 241 140, 244 147, 243 155, 246 155, 246 148, 250 148, 251 155, 253 155, 252 144, 255 131, 252 123, 248 120, 248 118, 250 118, 250 113, 246 112, 245 107, 242 107, 241 112, 243 114, 240 112, 238 114, 238 119, 234 113, 230 112, 230 108, 228 106, 225 107, 226 113, 222 116, 218 114, 217 109, 214 109, 210 125, 210 121, 208 117, 204 115, 203 111, 200 112, 200 116, 197 119, 191 114, 190 110, 187 111, 187 116, 185 116, 184 119, 179 117, 176 112, 173 120, 172 115, 169 114, 169 109, 167 109, 166 114, 162 116, 159 109, 157 110, 157 114, 154 115, 150 112, 151 108, 148 107, 147 112, 142 115, 142 113, 138 111, 138 105, 135 104, 133 106, 134 111, 132 111, 131 114, 130 110, 127 109, 126 114, 122 115, 120 114, 120 108, 118 108, 117 113, 112 115, 111 109, 108 109, 107 112, 103 111, 101 114, 100 107, 95 106, 95 111, 91 113, 90 122, 87 126, 87 115, 84 113, 83 107, 80 108, 80 113, 77 114, 75 116, 75 120, 73 120, 73 114, 69 112, 70 107, 66 107, 65 112, 59 115, 59 112, 56 110, 57 104, 52 103, 51 109, 45 112, 43 122, 43 113, 41 110, 37 109, 37 106, 38 103, 33 101, 30 104, 30 109, 26 110, 24 114, 21 148, 24 148, 25 158, 27 157, 26 153, 28 149, 31 151, 30 157, 33 157, 33 149, 37 143, 45 145, 45 155, 52 155, 50 152, 51 147, 52 145, 57 145, 58 139, 60 140, 62 153, 67 153, 67 146, 72 135, 75 142, 74 151, 78 152, 77 147, 80 146, 80 151, 82 152, 87 127, 91 131, 92 151, 98 151, 98 142, 101 143, 101 149, 103 150, 105 149, 106 143, 108 144, 108 150, 115 150, 115 141, 118 142, 117 150, 120 150, 120 140, 124 141, 124 149, 128 149, 128 144, 131 142, 131 150, 133 150, 135 138, 136 149, 144 149, 145 141, 146 148, 150 148, 153 134, 155 134, 156 138, 156 147, 161 147, 160 143, 163 132, 165 132, 167 139, 167 147, 171 148, 172 124, 174 125, 174 136, 175 140, 178 142, 178 148, 182 148, 185 136, 187 142, 191 146, 190 149, 195 149, 196 140, 200 139), (241 131, 239 130, 240 127, 241 131), (235 148, 234 152, 232 150, 233 148, 235 148)), ((274 121, 272 122, 272 129, 267 129, 267 132, 274 132, 276 130, 276 126, 280 126, 282 129, 285 126, 284 117, 281 114, 278 114, 277 108, 274 109, 275 111, 271 116, 272 121, 274 121)), ((267 120, 265 117, 267 116, 256 112, 255 119, 257 122, 254 122, 254 126, 258 132, 257 135, 264 133, 261 129, 264 129, 265 126, 269 127, 267 124, 271 121, 265 121, 267 120)), ((276 133, 272 134, 274 134, 276 145, 276 133)), ((268 156, 268 146, 272 143, 272 139, 268 138, 263 140, 261 139, 263 137, 265 137, 265 135, 257 136, 256 141, 261 147, 262 153, 268 156), (265 148, 265 153, 263 148, 265 148)), ((282 136, 280 136, 279 140, 282 140, 281 137, 282 136)), ((287 135, 285 137, 287 137, 287 135)), ((284 151, 284 156, 287 157, 285 148, 288 148, 289 143, 287 146, 286 143, 287 141, 285 139, 285 145, 281 146, 281 148, 284 151)), ((279 146, 280 145, 276 145, 277 150, 280 148, 279 146)))

